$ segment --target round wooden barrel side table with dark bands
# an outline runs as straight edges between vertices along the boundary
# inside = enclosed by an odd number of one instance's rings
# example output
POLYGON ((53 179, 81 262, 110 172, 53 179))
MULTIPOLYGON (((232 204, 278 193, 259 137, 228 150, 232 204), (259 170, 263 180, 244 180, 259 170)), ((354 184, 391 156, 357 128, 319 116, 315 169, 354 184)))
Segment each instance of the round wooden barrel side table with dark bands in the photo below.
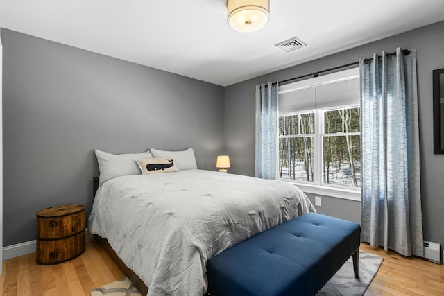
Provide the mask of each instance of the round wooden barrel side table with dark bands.
POLYGON ((58 264, 85 252, 85 207, 67 204, 37 212, 35 261, 58 264))

